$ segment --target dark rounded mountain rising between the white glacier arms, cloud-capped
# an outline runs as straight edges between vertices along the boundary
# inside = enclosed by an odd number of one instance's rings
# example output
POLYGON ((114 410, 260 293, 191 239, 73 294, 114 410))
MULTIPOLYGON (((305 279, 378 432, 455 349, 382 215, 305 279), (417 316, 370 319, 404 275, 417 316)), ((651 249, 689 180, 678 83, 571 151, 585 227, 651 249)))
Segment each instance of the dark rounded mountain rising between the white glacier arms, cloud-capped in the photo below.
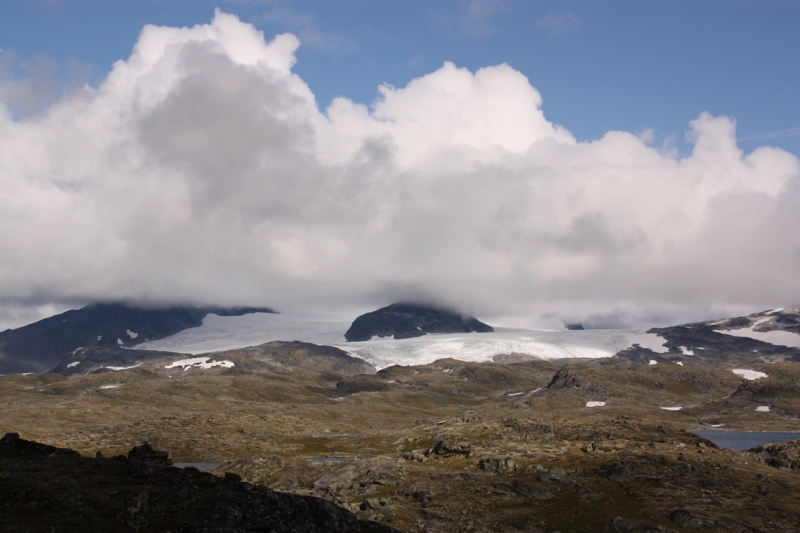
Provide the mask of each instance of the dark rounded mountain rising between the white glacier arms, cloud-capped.
POLYGON ((368 341, 374 336, 410 339, 428 333, 488 333, 492 326, 473 316, 464 316, 440 307, 393 303, 366 313, 353 321, 344 334, 349 342, 368 341))

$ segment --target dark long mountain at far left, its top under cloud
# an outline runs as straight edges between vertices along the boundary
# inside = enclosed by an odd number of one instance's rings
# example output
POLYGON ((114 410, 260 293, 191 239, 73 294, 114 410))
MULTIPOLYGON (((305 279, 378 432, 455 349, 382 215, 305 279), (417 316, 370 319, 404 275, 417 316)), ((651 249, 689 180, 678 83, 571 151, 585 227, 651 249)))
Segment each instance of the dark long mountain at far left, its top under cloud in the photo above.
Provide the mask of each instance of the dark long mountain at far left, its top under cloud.
POLYGON ((95 303, 0 332, 0 373, 45 372, 78 348, 133 346, 169 337, 200 326, 209 313, 240 316, 273 311, 255 307, 140 308, 124 303, 95 303))

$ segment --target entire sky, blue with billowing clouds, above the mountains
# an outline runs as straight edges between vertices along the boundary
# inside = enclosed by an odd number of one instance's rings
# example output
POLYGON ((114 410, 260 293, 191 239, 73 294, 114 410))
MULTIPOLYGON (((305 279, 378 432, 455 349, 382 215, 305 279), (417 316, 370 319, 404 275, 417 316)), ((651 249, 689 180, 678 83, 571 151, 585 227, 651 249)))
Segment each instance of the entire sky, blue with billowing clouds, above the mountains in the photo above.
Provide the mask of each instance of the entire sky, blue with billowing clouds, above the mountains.
POLYGON ((800 3, 10 0, 0 329, 800 302, 800 3))

